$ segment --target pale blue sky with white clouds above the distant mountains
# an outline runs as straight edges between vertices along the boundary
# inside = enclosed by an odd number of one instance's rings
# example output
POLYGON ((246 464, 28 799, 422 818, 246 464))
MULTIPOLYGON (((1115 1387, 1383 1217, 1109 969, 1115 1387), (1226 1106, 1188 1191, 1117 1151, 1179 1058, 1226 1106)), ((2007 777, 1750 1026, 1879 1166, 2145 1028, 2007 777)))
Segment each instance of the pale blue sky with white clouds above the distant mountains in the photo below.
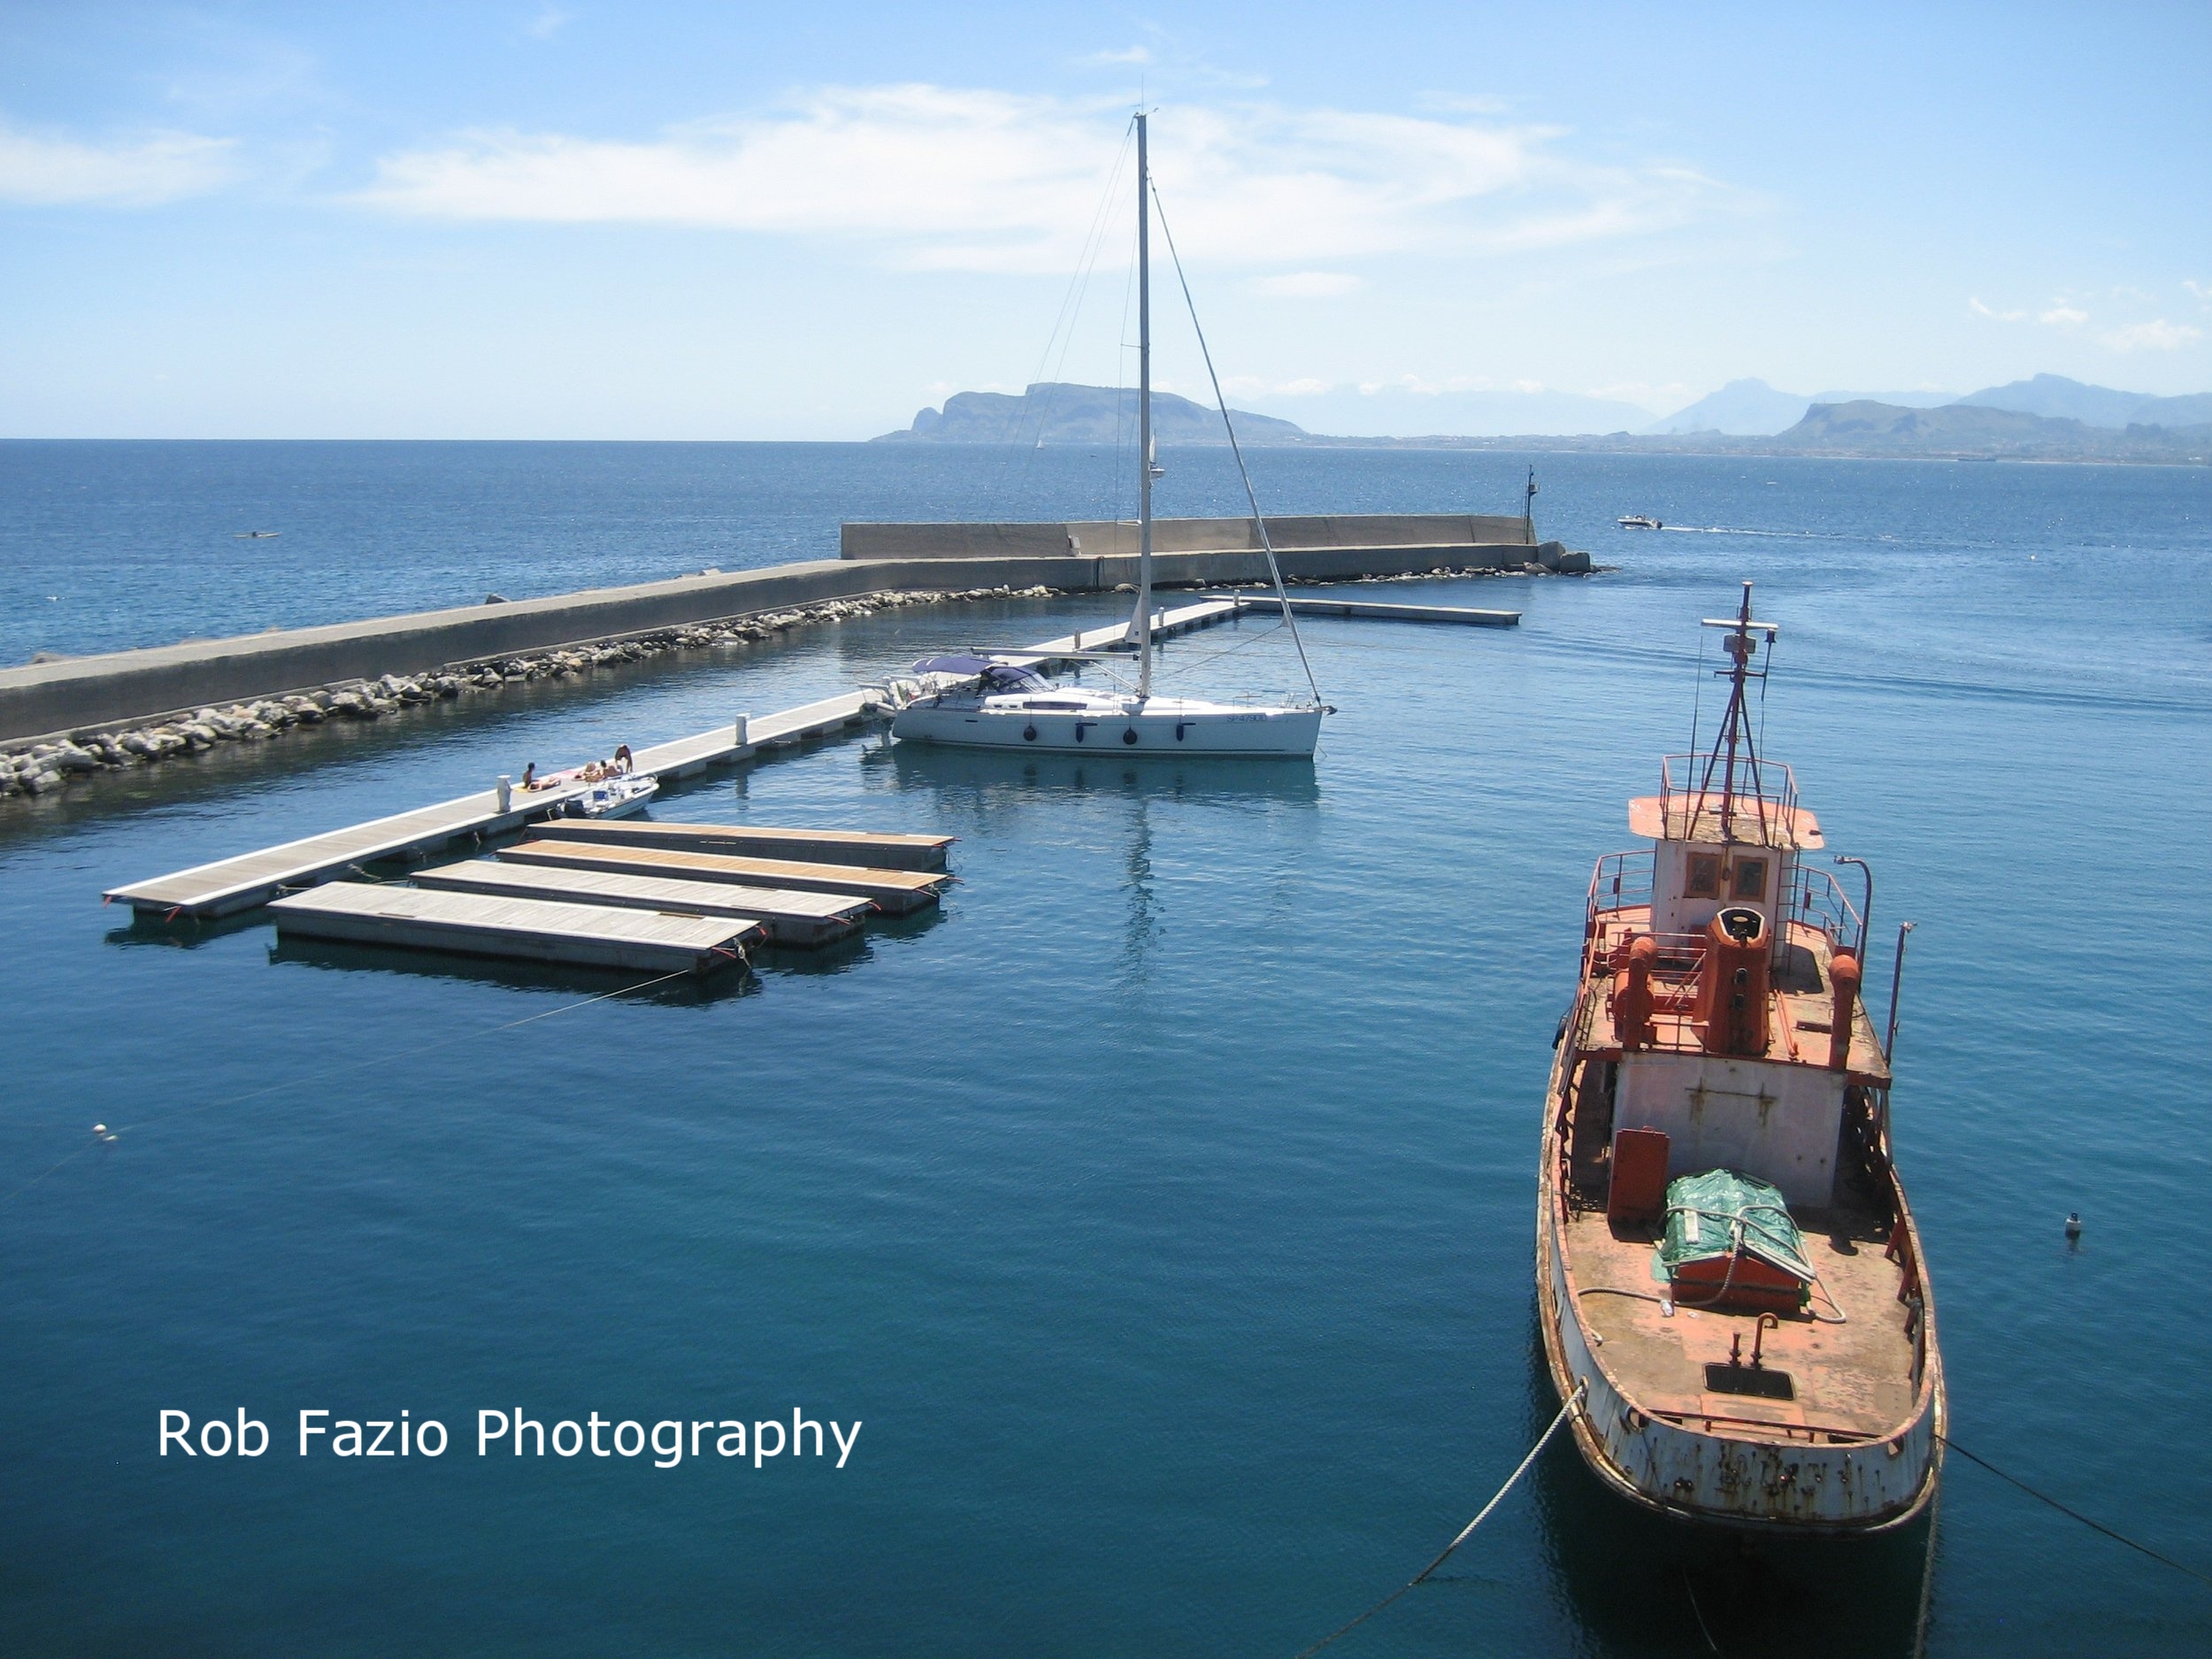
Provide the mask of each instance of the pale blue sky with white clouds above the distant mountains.
MULTIPOLYGON (((2208 86, 2203 0, 0 0, 0 436, 847 440, 1133 383, 1139 100, 1230 398, 1314 429, 2205 392, 2208 86)), ((1161 261, 1203 396, 1179 305, 1161 261)))

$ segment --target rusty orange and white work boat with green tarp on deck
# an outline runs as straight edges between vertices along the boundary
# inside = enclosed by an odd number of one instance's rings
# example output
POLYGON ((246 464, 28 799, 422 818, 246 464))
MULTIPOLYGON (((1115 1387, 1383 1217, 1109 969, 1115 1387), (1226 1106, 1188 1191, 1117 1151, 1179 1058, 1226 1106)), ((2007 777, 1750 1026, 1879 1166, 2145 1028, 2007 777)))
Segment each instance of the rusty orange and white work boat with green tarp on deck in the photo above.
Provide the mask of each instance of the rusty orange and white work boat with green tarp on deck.
MULTIPOLYGON (((1865 920, 1825 869, 1745 688, 1772 624, 1725 622, 1714 745, 1630 801, 1559 1026, 1537 1177, 1537 1298, 1575 1442, 1692 1522, 1876 1533, 1942 1464, 1936 1305, 1889 1161, 1865 920)), ((1692 743, 1694 748, 1694 743, 1692 743)), ((1871 894, 1871 880, 1869 880, 1871 894)), ((1898 940, 1902 962, 1902 933, 1898 940)), ((1893 1020, 1891 1020, 1893 1024, 1893 1020)))

